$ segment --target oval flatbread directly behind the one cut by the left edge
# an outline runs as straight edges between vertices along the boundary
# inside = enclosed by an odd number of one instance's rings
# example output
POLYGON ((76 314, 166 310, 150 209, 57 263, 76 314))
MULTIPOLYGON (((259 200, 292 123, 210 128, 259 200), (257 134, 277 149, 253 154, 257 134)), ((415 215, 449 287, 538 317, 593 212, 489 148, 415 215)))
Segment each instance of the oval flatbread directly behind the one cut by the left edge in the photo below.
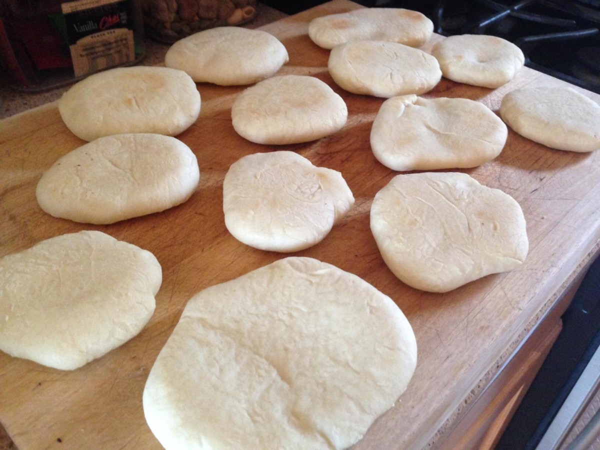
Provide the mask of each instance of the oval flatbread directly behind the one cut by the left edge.
POLYGON ((107 224, 179 205, 199 179, 196 155, 175 137, 115 134, 64 155, 35 194, 54 217, 107 224))

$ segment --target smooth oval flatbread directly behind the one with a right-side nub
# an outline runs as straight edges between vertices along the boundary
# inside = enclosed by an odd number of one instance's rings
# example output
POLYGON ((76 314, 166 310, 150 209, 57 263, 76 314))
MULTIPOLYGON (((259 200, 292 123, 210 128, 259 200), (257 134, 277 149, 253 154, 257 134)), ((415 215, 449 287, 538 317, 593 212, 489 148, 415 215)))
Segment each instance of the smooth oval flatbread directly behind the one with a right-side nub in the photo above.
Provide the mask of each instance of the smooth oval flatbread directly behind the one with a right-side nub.
POLYGON ((344 100, 318 78, 283 75, 238 95, 231 109, 235 131, 259 144, 309 142, 340 130, 348 118, 344 100))

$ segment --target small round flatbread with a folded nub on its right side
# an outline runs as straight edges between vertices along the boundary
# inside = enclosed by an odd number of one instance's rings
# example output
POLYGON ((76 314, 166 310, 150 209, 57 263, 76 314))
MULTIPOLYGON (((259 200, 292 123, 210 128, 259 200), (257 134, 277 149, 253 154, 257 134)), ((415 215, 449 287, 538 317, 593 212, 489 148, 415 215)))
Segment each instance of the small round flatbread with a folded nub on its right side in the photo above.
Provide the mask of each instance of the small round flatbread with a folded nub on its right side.
POLYGON ((340 172, 289 151, 233 163, 223 181, 230 233, 260 250, 298 251, 322 241, 354 204, 340 172))

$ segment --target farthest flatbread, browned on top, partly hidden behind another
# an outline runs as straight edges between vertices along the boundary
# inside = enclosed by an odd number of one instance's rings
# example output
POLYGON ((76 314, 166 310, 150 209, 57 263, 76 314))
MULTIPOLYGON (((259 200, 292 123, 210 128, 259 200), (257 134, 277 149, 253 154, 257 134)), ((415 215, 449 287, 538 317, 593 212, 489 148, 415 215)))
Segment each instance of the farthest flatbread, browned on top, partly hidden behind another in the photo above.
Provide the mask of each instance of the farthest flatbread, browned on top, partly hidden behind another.
POLYGON ((420 47, 432 33, 430 19, 403 8, 361 8, 317 17, 308 25, 308 36, 323 49, 350 41, 390 41, 420 47))

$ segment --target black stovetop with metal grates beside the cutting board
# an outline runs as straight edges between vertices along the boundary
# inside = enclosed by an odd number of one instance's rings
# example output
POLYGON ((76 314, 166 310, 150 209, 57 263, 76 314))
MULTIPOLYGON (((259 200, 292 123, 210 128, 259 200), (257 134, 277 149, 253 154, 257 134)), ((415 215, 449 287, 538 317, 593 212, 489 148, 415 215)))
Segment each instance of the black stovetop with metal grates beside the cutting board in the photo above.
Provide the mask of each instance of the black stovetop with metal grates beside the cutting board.
POLYGON ((600 93, 600 0, 442 0, 430 16, 439 34, 500 36, 528 67, 600 93))

